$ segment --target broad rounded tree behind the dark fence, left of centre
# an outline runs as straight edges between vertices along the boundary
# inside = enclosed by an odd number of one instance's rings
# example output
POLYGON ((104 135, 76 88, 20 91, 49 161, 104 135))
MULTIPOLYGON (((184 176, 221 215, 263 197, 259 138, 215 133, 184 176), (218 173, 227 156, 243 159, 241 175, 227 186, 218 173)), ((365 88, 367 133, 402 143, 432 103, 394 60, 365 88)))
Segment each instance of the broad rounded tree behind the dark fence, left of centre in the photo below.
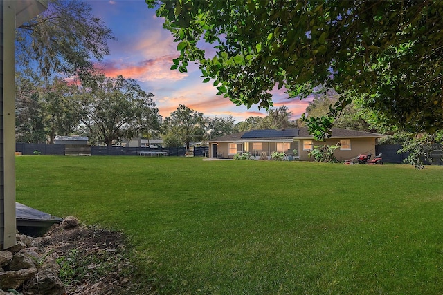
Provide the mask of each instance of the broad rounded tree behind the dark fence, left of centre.
POLYGON ((158 113, 152 93, 146 93, 134 79, 94 76, 75 95, 76 110, 89 133, 111 146, 118 137, 131 138, 145 128, 147 113, 158 113))

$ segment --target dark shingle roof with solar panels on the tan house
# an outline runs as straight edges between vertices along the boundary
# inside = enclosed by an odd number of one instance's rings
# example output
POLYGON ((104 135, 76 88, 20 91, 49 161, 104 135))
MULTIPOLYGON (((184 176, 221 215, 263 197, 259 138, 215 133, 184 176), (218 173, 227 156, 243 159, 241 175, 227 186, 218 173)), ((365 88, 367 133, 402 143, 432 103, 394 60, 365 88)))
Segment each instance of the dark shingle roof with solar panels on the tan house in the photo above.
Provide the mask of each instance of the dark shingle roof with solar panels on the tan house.
MULTIPOLYGON (((350 129, 333 128, 331 138, 379 138, 386 135, 379 133, 372 133, 366 131, 356 131, 350 129)), ((233 133, 230 135, 224 135, 221 137, 213 138, 207 142, 248 142, 251 140, 293 140, 293 139, 312 139, 312 135, 309 134, 306 127, 298 129, 286 129, 286 130, 253 130, 233 133)))

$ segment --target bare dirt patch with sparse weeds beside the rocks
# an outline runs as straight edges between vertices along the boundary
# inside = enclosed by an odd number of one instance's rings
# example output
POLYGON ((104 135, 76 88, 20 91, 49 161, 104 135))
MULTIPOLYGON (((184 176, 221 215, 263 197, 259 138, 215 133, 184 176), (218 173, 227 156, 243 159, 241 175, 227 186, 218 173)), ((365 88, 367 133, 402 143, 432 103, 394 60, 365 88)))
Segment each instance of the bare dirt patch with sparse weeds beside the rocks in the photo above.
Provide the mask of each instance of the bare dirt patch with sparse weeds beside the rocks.
POLYGON ((155 294, 136 280, 123 234, 65 221, 38 240, 60 265, 66 294, 155 294))

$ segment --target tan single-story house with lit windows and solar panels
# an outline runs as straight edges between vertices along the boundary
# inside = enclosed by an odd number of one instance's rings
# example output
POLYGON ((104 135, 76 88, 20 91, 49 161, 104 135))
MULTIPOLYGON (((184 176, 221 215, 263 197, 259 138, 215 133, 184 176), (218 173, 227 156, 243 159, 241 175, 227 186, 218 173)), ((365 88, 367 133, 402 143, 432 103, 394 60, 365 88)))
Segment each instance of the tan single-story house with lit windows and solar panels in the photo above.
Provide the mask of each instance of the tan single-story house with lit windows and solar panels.
POLYGON ((255 157, 284 152, 297 156, 300 160, 309 158, 314 146, 340 144, 334 155, 338 160, 347 160, 361 153, 375 153, 375 140, 385 135, 350 129, 332 129, 332 137, 326 142, 318 142, 307 128, 285 130, 253 130, 225 135, 208 140, 209 158, 233 158, 237 153, 251 153, 255 157))

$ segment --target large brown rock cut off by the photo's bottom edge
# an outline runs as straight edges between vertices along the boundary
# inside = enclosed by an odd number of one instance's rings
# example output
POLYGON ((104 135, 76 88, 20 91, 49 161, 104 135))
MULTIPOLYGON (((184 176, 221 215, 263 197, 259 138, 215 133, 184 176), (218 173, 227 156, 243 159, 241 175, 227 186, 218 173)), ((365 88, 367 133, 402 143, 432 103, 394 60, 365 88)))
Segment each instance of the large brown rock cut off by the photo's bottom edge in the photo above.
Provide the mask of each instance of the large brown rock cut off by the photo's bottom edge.
POLYGON ((64 295, 66 288, 51 268, 43 268, 24 285, 24 294, 64 295))

